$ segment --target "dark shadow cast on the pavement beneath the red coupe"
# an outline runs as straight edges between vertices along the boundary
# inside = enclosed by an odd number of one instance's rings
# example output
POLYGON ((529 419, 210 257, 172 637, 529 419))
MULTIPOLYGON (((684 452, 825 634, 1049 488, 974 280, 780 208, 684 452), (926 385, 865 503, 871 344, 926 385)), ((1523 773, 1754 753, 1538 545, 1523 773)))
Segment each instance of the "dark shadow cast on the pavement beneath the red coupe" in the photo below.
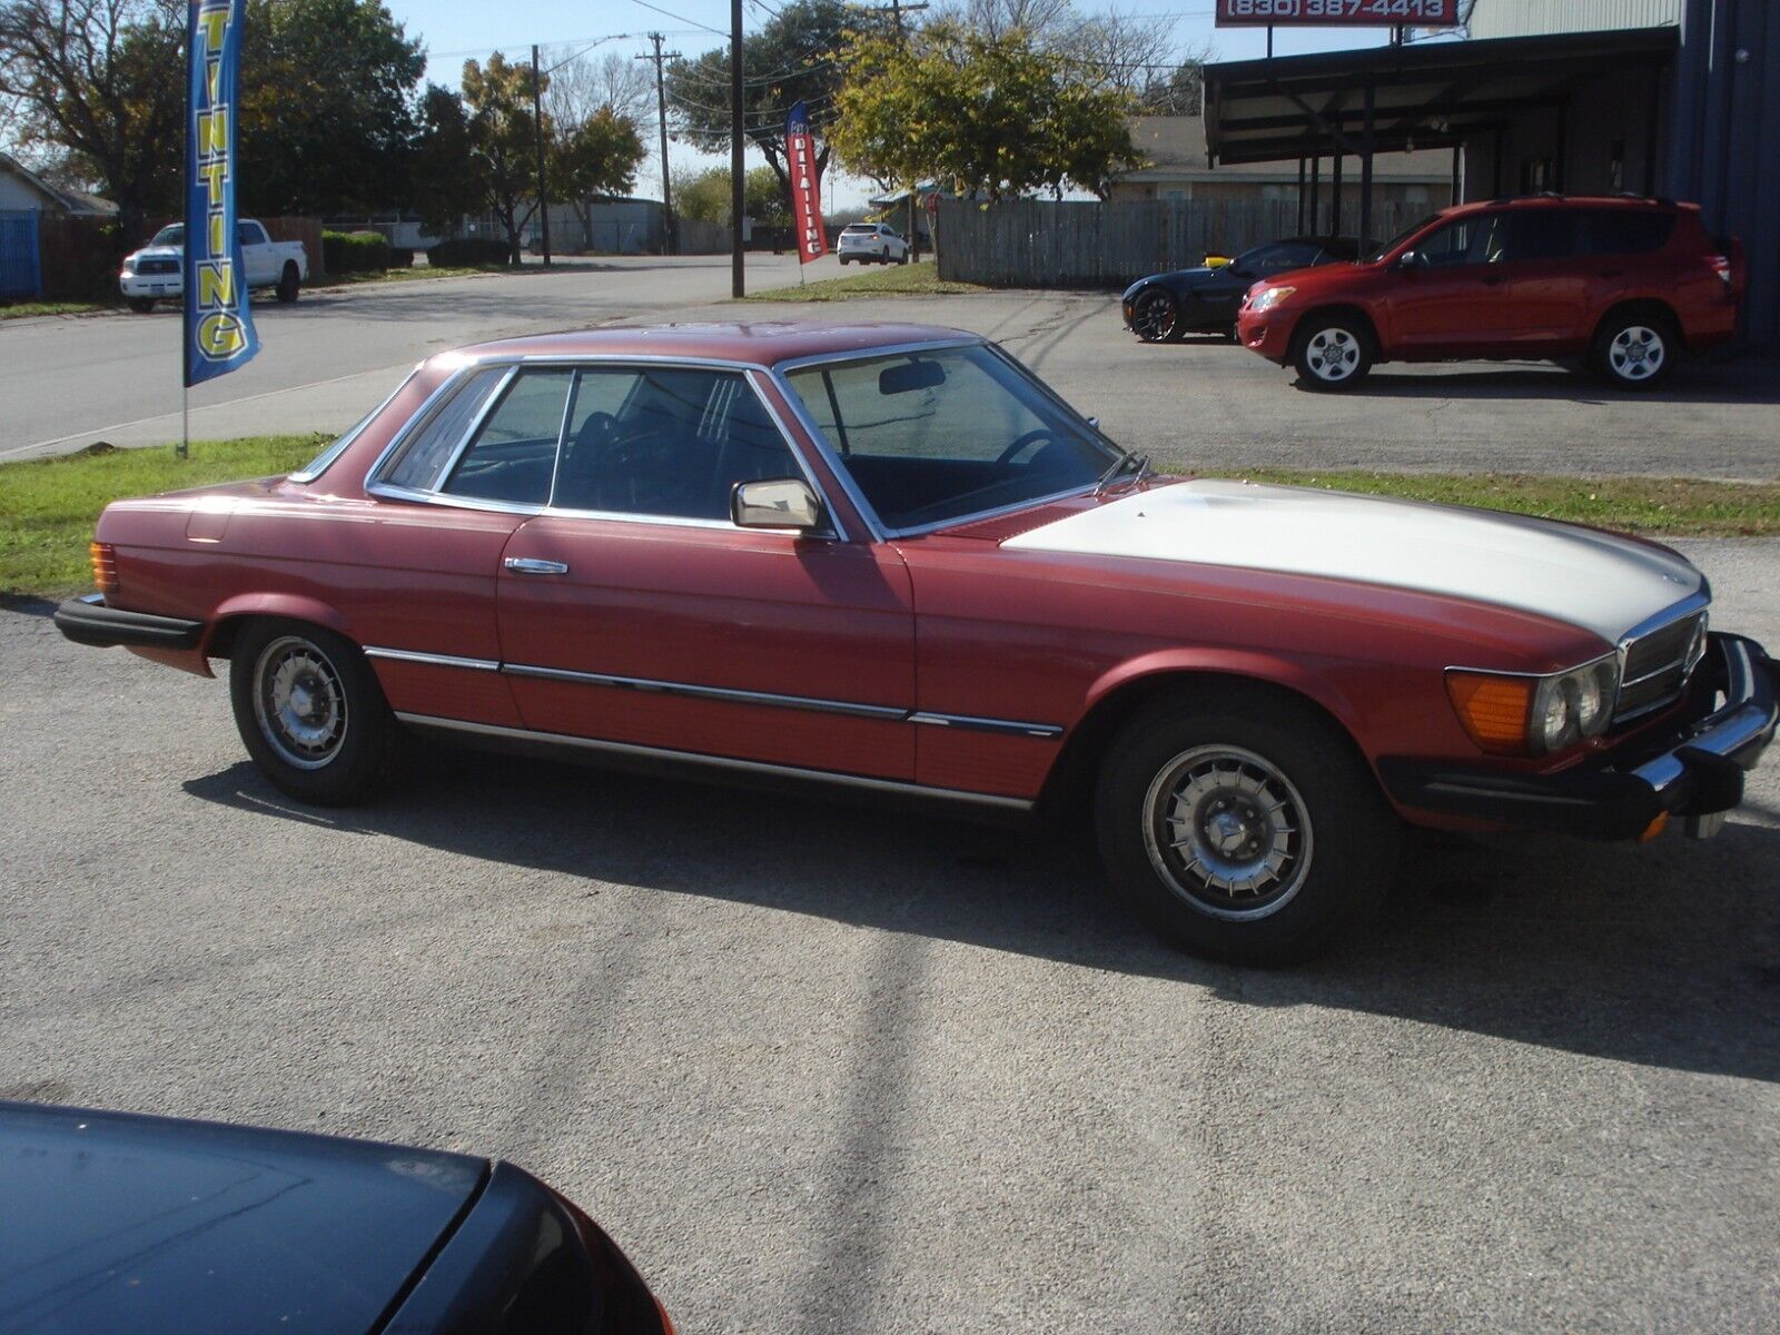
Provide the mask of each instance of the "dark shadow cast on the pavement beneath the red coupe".
POLYGON ((1780 1080, 1780 829, 1711 842, 1412 835, 1381 920, 1294 970, 1178 954, 1063 829, 981 826, 479 753, 315 810, 246 762, 203 801, 566 878, 1171 979, 1244 1006, 1387 1015, 1675 1070, 1780 1080))

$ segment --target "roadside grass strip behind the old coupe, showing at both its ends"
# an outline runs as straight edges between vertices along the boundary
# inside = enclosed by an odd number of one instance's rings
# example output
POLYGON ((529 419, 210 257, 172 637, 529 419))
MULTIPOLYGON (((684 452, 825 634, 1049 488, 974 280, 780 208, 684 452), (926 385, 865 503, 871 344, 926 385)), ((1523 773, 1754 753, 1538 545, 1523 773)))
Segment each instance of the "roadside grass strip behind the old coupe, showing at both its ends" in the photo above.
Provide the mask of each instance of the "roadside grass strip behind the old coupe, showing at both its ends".
MULTIPOLYGON (((173 456, 171 445, 157 445, 0 465, 0 593, 59 598, 85 591, 93 523, 117 497, 287 473, 312 459, 326 441, 328 436, 320 434, 249 436, 192 441, 190 457, 183 461, 173 456)), ((1629 532, 1780 534, 1780 484, 1775 482, 1292 468, 1214 472, 1255 482, 1485 506, 1629 532)))

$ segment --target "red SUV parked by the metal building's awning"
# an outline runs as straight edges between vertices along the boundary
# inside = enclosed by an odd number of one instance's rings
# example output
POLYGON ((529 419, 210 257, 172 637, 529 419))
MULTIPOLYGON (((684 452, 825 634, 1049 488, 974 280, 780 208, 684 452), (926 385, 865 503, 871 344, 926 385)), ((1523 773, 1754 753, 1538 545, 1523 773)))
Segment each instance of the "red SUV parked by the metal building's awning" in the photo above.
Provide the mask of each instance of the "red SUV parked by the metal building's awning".
POLYGON ((1639 390, 1736 333, 1743 283, 1741 242, 1707 235, 1698 205, 1495 199, 1360 263, 1255 283, 1237 336, 1312 390, 1351 388, 1378 361, 1566 356, 1639 390))

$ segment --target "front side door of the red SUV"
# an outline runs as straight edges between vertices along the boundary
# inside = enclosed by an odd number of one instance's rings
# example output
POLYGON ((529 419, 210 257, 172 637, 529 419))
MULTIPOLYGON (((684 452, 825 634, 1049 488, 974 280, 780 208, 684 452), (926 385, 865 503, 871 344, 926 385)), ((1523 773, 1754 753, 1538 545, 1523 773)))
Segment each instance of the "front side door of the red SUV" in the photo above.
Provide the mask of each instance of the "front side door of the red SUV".
POLYGON ((1392 354, 1485 356, 1511 340, 1509 297, 1490 263, 1499 219, 1454 219, 1397 262, 1383 301, 1392 354))

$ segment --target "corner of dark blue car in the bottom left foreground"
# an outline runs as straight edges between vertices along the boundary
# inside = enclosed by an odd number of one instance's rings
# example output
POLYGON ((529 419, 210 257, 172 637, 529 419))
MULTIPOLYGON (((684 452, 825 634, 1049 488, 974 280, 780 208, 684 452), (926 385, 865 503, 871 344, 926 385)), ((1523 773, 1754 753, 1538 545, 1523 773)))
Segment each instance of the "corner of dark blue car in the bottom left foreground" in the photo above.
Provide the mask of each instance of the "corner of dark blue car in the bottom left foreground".
POLYGON ((0 1104, 0 1328, 673 1335, 618 1244, 506 1162, 0 1104))

